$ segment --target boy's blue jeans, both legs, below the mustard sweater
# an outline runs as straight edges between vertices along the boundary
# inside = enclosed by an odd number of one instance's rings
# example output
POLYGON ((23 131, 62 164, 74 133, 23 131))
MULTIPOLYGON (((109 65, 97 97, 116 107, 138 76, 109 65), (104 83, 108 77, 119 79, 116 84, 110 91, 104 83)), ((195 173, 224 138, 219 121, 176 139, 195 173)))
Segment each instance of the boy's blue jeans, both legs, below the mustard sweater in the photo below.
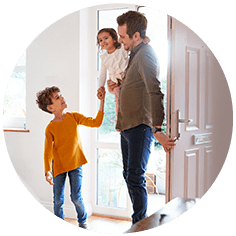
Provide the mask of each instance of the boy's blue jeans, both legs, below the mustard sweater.
POLYGON ((82 166, 79 168, 62 173, 56 177, 53 177, 53 194, 54 194, 54 214, 61 218, 65 219, 65 215, 63 212, 63 204, 64 204, 64 189, 65 189, 65 180, 66 175, 68 173, 70 180, 70 189, 71 189, 71 200, 75 205, 77 214, 78 214, 78 222, 85 223, 87 220, 87 213, 85 211, 83 198, 81 196, 81 185, 82 185, 82 166))

